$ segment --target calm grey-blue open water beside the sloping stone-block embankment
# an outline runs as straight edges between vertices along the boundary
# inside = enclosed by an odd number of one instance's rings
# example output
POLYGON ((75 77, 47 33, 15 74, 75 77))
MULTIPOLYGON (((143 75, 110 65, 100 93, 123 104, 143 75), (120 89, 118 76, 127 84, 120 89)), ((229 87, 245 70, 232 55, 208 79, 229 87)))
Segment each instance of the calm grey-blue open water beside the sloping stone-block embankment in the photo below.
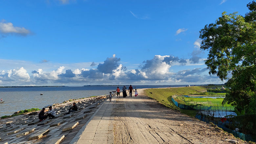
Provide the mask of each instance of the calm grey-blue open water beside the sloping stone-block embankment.
MULTIPOLYGON (((141 88, 182 87, 175 86, 133 86, 141 88)), ((128 86, 126 86, 128 88, 128 86)), ((122 86, 119 86, 122 89, 122 86)), ((4 103, 0 104, 0 116, 11 115, 19 110, 31 108, 43 108, 54 103, 62 103, 64 100, 105 95, 109 91, 115 91, 117 86, 84 86, 84 87, 37 87, 37 88, 0 88, 0 98, 4 103), (40 95, 43 93, 43 95, 40 95)))

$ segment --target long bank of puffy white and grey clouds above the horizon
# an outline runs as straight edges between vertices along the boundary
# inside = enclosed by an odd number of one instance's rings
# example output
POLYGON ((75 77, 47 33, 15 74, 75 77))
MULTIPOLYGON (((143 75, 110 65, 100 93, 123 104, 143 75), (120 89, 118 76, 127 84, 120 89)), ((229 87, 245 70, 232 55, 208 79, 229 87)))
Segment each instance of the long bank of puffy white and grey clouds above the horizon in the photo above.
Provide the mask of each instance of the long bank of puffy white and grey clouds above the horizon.
MULTIPOLYGON (((200 52, 194 51, 193 55, 200 52)), ((55 70, 32 70, 31 75, 23 67, 0 71, 0 85, 109 85, 109 84, 187 84, 205 83, 219 80, 218 77, 208 77, 206 68, 181 70, 173 72, 173 65, 189 65, 190 59, 183 59, 171 55, 155 55, 152 59, 145 60, 135 69, 129 69, 121 64, 120 58, 106 58, 95 69, 70 69, 66 66, 55 70), (205 73, 205 74, 204 74, 205 73)), ((43 65, 43 64, 41 64, 43 65)), ((45 64, 44 64, 45 65, 45 64)), ((48 65, 48 64, 47 64, 48 65)), ((87 64, 90 67, 90 64, 87 64)), ((82 65, 81 65, 82 66, 82 65)), ((183 66, 182 66, 183 67, 183 66)), ((197 66, 198 67, 198 66, 197 66)))

